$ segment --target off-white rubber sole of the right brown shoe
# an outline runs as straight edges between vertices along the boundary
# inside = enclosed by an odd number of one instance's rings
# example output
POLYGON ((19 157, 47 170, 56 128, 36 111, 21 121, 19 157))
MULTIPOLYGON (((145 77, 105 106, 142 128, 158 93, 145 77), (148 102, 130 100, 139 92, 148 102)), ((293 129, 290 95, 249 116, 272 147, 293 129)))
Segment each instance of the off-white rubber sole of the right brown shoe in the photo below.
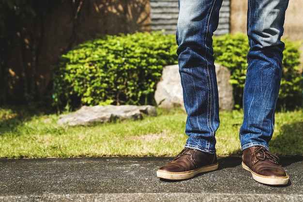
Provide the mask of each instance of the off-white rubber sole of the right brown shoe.
POLYGON ((265 175, 260 175, 252 170, 248 166, 245 165, 242 161, 242 168, 246 171, 250 171, 253 175, 254 180, 256 180, 259 183, 265 184, 265 185, 287 185, 288 184, 288 175, 284 177, 270 177, 265 175))

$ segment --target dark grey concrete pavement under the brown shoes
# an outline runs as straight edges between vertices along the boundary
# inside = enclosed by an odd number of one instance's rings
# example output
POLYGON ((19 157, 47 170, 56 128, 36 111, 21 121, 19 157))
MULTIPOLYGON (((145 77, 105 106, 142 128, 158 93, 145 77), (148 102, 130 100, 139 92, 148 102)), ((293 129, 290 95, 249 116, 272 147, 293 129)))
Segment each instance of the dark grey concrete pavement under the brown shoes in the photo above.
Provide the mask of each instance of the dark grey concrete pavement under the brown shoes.
POLYGON ((241 157, 185 181, 156 170, 172 157, 0 159, 0 202, 302 202, 303 156, 281 157, 287 186, 255 182, 241 157))

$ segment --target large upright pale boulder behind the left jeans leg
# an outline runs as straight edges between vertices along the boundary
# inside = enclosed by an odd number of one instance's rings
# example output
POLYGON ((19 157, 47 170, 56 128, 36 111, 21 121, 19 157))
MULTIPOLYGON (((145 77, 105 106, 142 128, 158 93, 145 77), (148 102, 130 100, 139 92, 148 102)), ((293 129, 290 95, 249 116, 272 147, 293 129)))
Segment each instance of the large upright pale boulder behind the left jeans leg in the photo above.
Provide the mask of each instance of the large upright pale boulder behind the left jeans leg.
MULTIPOLYGON (((234 107, 234 98, 232 86, 229 84, 229 70, 219 64, 215 64, 215 66, 219 92, 219 109, 231 111, 234 107)), ((181 106, 184 109, 178 64, 163 68, 162 77, 157 84, 154 99, 159 107, 171 109, 174 106, 181 106)))

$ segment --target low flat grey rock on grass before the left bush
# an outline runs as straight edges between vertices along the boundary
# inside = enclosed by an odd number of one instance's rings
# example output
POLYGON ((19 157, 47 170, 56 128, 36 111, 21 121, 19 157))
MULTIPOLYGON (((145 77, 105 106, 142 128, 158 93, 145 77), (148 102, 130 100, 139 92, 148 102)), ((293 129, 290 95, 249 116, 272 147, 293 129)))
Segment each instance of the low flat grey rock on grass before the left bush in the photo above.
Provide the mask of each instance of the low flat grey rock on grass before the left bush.
POLYGON ((116 120, 142 119, 142 115, 157 116, 155 107, 122 105, 122 106, 83 106, 74 113, 61 115, 58 121, 59 124, 68 125, 85 125, 92 123, 108 123, 116 120))

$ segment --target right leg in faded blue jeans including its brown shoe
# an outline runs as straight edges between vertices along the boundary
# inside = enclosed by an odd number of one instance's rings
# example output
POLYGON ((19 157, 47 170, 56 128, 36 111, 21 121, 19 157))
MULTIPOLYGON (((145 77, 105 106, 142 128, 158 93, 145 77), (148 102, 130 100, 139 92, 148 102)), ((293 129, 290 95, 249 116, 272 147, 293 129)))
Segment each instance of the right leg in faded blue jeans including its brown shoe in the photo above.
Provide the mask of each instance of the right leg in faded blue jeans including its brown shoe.
POLYGON ((242 164, 255 180, 270 185, 288 183, 277 156, 268 152, 282 75, 284 44, 280 38, 287 6, 288 0, 248 0, 250 50, 240 128, 242 164))

